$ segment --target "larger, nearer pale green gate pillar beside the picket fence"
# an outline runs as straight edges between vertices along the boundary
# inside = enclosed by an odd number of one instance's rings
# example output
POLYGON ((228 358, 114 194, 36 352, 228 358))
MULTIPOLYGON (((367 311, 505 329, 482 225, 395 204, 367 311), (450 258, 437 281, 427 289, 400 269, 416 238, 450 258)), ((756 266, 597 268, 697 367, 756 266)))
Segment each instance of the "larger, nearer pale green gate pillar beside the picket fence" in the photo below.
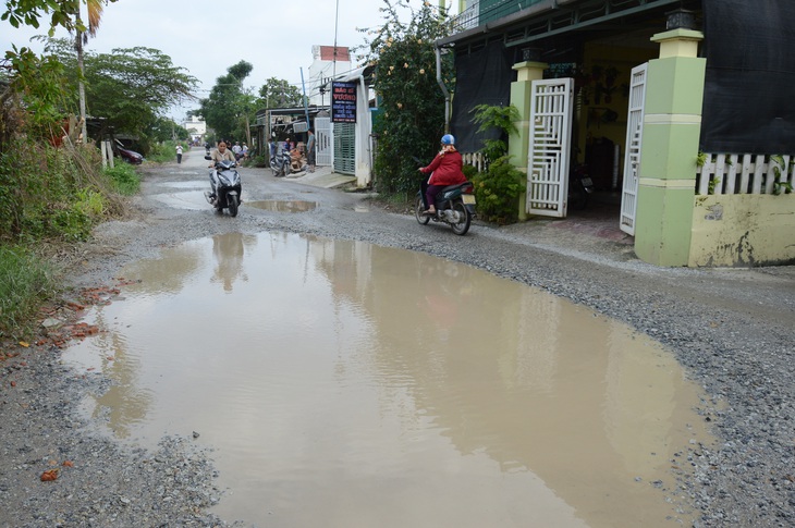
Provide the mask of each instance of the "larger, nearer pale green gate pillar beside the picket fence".
POLYGON ((696 189, 706 60, 704 34, 655 35, 660 58, 649 61, 640 146, 635 253, 657 266, 687 266, 696 189))

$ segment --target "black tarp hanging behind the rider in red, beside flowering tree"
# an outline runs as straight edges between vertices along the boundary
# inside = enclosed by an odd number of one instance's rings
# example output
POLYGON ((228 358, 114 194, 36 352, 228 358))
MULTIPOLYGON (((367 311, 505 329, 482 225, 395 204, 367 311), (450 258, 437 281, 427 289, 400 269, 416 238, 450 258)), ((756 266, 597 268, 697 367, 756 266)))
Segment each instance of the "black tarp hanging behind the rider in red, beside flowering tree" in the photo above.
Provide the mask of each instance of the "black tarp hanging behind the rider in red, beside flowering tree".
POLYGON ((455 96, 450 116, 450 132, 462 152, 484 148, 484 139, 500 137, 500 131, 477 133, 479 125, 472 122, 473 108, 478 105, 509 106, 514 72, 511 53, 502 41, 493 41, 469 53, 455 57, 455 96))

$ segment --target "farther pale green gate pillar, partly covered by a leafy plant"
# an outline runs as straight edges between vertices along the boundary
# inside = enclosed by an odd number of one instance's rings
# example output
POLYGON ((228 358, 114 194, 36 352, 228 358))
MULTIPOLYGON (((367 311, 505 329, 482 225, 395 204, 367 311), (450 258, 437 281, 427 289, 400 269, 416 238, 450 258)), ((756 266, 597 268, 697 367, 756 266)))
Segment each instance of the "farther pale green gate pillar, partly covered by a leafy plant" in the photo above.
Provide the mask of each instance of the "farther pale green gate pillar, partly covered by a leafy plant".
MULTIPOLYGON (((507 142, 507 155, 511 157, 511 164, 527 174, 527 150, 530 145, 530 97, 533 96, 533 82, 543 78, 543 71, 549 67, 546 62, 525 61, 513 65, 516 70, 516 81, 511 83, 511 105, 519 111, 521 119, 516 123, 518 135, 511 137, 507 142)), ((527 220, 527 195, 519 196, 519 220, 527 220)))

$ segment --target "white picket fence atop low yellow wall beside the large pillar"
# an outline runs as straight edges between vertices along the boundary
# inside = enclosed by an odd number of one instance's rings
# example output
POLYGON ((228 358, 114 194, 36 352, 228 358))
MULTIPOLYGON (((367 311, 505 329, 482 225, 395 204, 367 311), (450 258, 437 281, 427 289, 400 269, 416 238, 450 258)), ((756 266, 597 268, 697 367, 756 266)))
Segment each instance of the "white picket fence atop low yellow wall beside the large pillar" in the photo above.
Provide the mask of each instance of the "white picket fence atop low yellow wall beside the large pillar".
MULTIPOLYGON (((707 154, 696 175, 697 195, 773 194, 779 184, 795 183, 795 156, 707 154)), ((783 193, 783 187, 780 187, 783 193)))

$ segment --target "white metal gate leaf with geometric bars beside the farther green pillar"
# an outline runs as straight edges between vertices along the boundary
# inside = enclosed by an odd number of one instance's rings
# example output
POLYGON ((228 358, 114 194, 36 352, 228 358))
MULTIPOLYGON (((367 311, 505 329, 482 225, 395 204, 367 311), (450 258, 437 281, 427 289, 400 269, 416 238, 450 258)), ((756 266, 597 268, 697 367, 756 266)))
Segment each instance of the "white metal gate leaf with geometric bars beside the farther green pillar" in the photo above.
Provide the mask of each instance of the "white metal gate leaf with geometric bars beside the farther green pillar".
POLYGON ((529 214, 566 216, 574 79, 534 81, 527 161, 529 214))

